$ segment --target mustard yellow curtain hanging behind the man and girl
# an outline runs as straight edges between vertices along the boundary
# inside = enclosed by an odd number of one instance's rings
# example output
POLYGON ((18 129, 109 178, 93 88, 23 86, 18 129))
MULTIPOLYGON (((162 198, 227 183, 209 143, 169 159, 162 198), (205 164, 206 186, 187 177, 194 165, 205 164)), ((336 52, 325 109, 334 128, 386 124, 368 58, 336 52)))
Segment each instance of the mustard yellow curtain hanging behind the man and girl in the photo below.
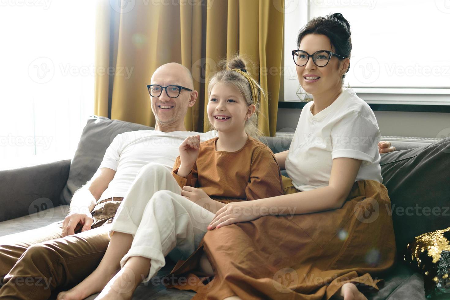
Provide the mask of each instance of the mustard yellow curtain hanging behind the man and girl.
POLYGON ((259 128, 274 135, 280 89, 284 0, 98 1, 94 113, 155 125, 145 85, 157 67, 188 67, 197 103, 184 119, 203 131, 206 79, 216 63, 239 53, 255 63, 250 72, 268 97, 259 128), (116 3, 117 2, 117 3, 116 3), (120 4, 120 5, 119 5, 120 4), (281 9, 280 9, 281 8, 281 9))

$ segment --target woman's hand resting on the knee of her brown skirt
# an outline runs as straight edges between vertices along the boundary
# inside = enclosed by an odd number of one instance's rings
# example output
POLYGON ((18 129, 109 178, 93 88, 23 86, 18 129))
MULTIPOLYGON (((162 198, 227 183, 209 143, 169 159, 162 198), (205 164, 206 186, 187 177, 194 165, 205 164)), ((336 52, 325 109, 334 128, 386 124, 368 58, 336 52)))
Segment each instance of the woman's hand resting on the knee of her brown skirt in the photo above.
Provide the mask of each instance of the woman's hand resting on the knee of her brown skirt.
POLYGON ((223 227, 238 222, 247 222, 258 219, 261 215, 257 212, 257 207, 252 205, 252 201, 239 201, 226 204, 217 210, 216 215, 208 225, 207 229, 223 227))

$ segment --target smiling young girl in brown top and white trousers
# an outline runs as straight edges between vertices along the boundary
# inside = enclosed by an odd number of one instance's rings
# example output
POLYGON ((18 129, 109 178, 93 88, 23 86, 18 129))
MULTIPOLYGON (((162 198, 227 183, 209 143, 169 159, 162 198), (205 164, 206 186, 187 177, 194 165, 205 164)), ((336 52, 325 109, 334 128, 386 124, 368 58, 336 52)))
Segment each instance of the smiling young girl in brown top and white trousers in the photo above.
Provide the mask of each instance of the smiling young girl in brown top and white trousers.
POLYGON ((208 87, 207 116, 218 137, 203 143, 198 135, 185 139, 173 172, 157 164, 139 171, 99 267, 58 299, 84 299, 102 290, 96 299, 130 299, 143 279, 148 282, 164 266, 166 255, 188 258, 226 203, 283 193, 274 154, 250 136, 257 133, 261 88, 242 58, 228 67, 208 87), (108 282, 119 262, 120 271, 108 282))

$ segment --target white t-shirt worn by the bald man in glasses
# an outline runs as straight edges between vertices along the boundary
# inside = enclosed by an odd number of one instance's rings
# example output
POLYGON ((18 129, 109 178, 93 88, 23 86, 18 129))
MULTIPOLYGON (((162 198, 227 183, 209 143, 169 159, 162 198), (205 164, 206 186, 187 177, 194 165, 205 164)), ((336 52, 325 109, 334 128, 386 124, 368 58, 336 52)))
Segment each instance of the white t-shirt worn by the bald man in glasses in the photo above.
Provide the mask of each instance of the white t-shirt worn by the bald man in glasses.
POLYGON ((188 136, 197 134, 200 135, 201 142, 216 137, 215 131, 136 130, 117 134, 106 149, 99 166, 116 171, 100 200, 125 197, 139 170, 150 162, 162 164, 172 170, 176 157, 180 155, 180 144, 188 136))

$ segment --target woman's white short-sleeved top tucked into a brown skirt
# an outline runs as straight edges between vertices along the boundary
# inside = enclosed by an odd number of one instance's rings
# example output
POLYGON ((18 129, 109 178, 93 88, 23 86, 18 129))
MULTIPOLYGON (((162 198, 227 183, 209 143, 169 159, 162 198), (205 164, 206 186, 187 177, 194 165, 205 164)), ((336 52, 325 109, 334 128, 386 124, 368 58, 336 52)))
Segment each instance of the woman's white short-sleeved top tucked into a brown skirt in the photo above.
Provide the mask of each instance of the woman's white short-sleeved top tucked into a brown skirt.
POLYGON ((313 115, 307 103, 286 158, 293 186, 308 191, 329 185, 334 158, 362 160, 358 180, 383 182, 378 142, 380 130, 374 112, 353 90, 344 90, 321 112, 313 115))

